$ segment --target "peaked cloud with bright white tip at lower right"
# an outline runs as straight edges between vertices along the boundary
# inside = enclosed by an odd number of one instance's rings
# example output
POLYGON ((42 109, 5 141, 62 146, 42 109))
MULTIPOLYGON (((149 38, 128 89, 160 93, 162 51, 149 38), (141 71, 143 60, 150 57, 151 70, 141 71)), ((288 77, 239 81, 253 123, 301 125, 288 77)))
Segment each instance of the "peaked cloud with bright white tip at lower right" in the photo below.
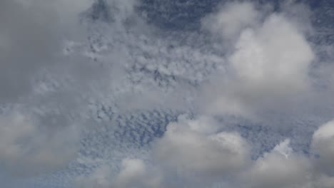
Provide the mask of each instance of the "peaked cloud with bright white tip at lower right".
POLYGON ((256 160, 253 166, 241 175, 243 187, 305 187, 312 175, 310 163, 303 155, 290 152, 288 142, 285 140, 256 160))

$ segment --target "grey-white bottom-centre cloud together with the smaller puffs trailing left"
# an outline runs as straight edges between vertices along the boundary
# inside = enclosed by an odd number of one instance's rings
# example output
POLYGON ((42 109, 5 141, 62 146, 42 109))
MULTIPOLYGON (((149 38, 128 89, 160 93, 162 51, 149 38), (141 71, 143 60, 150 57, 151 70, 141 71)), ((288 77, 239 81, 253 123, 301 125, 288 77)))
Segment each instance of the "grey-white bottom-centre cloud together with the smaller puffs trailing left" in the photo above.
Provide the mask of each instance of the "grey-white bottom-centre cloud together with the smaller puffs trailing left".
POLYGON ((211 118, 189 120, 182 115, 156 140, 149 164, 125 158, 118 174, 102 165, 88 179, 79 177, 76 186, 201 187, 227 179, 248 167, 249 148, 237 132, 221 132, 218 127, 211 118))

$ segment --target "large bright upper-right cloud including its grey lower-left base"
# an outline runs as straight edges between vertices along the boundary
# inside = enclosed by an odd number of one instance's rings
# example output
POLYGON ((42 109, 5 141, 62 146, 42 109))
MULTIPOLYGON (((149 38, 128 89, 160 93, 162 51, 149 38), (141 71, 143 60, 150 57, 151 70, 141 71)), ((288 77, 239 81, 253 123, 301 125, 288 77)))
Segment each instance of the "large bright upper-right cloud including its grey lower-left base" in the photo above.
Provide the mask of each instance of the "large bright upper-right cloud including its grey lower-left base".
POLYGON ((311 93, 309 71, 315 53, 304 33, 283 14, 258 23, 241 29, 227 71, 203 86, 206 112, 251 117, 265 109, 285 109, 282 104, 311 93))

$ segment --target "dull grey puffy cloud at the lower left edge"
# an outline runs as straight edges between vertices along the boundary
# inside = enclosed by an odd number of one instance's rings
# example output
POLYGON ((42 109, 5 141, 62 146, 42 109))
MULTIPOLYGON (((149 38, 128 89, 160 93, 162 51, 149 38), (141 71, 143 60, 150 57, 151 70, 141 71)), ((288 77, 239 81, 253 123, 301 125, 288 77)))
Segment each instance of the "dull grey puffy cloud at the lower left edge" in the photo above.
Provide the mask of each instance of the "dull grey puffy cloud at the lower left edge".
POLYGON ((66 167, 76 155, 77 138, 72 126, 56 129, 41 125, 34 115, 20 112, 2 114, 0 165, 19 176, 66 167))

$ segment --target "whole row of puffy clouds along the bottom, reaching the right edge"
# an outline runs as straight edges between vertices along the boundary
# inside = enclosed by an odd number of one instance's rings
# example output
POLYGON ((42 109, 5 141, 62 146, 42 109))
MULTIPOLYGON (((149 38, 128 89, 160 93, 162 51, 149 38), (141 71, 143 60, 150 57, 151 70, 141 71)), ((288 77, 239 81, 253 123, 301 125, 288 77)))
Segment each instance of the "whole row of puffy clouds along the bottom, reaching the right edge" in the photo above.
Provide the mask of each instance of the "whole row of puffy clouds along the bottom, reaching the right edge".
MULTIPOLYGON (((95 182, 96 186, 122 188, 211 187, 219 182, 222 187, 333 187, 333 122, 313 135, 313 150, 318 157, 293 151, 286 139, 256 160, 251 160, 251 145, 246 140, 236 132, 219 131, 216 123, 207 117, 188 120, 181 116, 156 141, 153 164, 125 159, 116 176, 103 173, 104 180, 92 175, 88 182, 78 182, 88 187, 95 182), (198 125, 208 129, 198 130, 198 125)), ((102 169, 108 167, 97 172, 102 169)))

